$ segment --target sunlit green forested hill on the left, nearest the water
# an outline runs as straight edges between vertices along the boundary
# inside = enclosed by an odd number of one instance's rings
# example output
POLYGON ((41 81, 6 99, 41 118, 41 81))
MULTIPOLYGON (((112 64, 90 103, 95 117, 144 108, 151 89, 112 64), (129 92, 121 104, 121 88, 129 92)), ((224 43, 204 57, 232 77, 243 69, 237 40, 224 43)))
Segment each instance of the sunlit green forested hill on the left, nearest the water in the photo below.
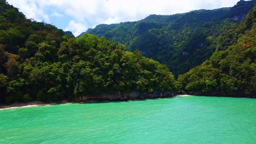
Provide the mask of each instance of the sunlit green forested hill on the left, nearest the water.
POLYGON ((0 0, 0 102, 74 100, 116 92, 177 91, 166 65, 106 38, 28 20, 0 0))

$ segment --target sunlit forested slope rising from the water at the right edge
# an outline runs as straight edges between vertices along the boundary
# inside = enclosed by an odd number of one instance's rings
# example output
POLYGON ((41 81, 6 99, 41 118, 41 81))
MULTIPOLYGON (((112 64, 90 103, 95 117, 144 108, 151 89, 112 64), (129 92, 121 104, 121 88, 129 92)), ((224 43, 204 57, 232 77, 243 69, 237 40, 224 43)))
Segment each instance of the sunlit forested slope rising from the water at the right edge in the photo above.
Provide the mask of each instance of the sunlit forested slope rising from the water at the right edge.
POLYGON ((191 94, 255 97, 256 6, 238 28, 217 39, 210 59, 179 76, 182 89, 191 94))

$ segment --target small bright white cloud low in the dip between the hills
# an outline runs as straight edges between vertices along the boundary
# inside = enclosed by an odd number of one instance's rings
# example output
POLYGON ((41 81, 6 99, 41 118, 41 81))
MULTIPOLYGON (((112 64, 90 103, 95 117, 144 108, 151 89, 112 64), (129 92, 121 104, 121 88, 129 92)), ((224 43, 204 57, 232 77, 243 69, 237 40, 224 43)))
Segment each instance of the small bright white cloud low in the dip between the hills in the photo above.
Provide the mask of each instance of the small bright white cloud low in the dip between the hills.
POLYGON ((86 26, 83 23, 70 21, 68 27, 65 28, 65 31, 71 31, 77 37, 80 33, 84 32, 86 26))

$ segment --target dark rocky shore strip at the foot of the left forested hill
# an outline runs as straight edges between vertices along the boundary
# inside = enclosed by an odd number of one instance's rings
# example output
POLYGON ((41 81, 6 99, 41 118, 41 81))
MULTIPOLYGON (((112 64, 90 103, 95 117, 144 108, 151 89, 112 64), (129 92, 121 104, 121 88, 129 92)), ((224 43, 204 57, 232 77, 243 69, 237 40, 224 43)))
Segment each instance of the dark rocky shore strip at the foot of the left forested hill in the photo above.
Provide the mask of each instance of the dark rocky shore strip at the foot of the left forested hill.
POLYGON ((86 95, 80 97, 77 101, 127 101, 136 99, 154 99, 154 98, 167 98, 174 97, 176 94, 171 91, 157 91, 157 92, 130 92, 123 93, 118 92, 114 94, 102 94, 102 95, 86 95))

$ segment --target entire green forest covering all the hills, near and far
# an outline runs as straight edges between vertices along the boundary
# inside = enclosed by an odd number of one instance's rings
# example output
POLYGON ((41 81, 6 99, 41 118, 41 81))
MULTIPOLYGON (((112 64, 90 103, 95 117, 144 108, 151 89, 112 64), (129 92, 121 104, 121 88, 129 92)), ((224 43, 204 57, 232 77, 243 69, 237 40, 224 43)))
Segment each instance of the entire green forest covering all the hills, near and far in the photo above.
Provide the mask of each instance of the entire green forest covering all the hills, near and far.
POLYGON ((118 92, 254 97, 255 2, 99 25, 75 38, 0 0, 0 103, 118 92), (168 67, 176 76, 194 68, 176 82, 168 67))

